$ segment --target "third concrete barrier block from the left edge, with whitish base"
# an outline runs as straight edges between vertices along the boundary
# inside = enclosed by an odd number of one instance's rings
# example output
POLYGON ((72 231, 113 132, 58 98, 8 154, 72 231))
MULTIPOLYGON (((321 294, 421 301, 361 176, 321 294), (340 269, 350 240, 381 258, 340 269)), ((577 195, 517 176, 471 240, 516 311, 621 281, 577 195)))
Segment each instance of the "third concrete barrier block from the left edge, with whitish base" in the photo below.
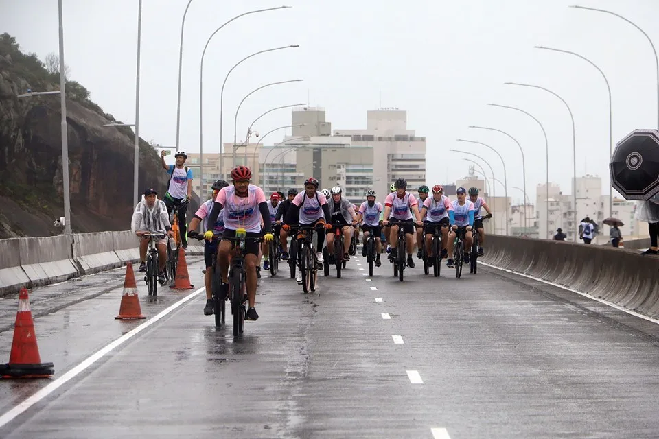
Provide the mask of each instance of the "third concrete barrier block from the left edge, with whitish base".
POLYGON ((112 232, 75 233, 73 260, 83 274, 93 274, 121 267, 123 261, 115 253, 112 232))

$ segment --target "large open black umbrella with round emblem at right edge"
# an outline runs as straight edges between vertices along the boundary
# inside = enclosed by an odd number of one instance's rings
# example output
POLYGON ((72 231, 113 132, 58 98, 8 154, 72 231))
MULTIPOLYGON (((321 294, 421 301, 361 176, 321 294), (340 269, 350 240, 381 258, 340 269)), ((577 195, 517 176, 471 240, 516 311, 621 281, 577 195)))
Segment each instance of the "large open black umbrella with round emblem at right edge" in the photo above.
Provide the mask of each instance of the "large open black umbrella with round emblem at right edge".
POLYGON ((609 171, 613 187, 627 200, 659 193, 659 131, 634 130, 619 141, 609 171))

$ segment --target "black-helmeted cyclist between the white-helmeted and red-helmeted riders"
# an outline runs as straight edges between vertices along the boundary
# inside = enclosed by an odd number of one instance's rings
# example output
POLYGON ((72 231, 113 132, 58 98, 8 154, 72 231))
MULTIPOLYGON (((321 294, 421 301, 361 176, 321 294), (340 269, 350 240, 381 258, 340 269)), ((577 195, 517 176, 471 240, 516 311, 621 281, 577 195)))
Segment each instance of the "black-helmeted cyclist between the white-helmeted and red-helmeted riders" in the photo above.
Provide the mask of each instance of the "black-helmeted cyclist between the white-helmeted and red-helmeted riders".
MULTIPOLYGON (((423 224, 421 222, 421 213, 419 213, 419 205, 417 199, 411 193, 407 193, 407 180, 399 178, 395 183, 396 192, 386 195, 384 200, 384 226, 389 226, 391 219, 397 219, 402 222, 407 247, 407 265, 409 268, 414 268, 414 261, 412 260, 412 252, 414 249, 414 224, 412 222, 412 214, 417 220, 417 225, 423 224), (391 214, 391 216, 389 216, 391 214)), ((397 257, 397 244, 398 244, 398 226, 391 226, 389 235, 389 243, 391 245, 391 254, 389 257, 395 259, 397 257)))

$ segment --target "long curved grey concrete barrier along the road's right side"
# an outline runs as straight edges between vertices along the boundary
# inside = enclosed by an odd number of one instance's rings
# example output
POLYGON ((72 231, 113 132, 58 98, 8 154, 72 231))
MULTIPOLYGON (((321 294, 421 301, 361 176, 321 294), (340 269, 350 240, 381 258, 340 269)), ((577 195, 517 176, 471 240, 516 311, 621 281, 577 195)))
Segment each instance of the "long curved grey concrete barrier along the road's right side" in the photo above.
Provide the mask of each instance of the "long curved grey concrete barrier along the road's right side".
POLYGON ((618 248, 490 235, 483 262, 659 317, 659 258, 618 248))

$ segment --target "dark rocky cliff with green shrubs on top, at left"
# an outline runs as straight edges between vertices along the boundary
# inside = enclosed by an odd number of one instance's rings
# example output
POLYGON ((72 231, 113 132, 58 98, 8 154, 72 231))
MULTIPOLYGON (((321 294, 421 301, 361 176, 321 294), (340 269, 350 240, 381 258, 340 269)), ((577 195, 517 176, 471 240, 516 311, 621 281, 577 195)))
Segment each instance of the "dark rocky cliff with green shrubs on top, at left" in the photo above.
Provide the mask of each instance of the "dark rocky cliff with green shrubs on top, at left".
MULTIPOLYGON (((0 35, 0 238, 61 233, 64 215, 60 97, 18 97, 27 89, 59 89, 14 38, 0 35)), ((128 127, 104 128, 115 119, 89 100, 77 82, 67 82, 69 186, 74 232, 127 230, 133 206, 135 134, 128 127)), ((139 143, 139 188, 161 193, 167 174, 146 141, 139 143)))

